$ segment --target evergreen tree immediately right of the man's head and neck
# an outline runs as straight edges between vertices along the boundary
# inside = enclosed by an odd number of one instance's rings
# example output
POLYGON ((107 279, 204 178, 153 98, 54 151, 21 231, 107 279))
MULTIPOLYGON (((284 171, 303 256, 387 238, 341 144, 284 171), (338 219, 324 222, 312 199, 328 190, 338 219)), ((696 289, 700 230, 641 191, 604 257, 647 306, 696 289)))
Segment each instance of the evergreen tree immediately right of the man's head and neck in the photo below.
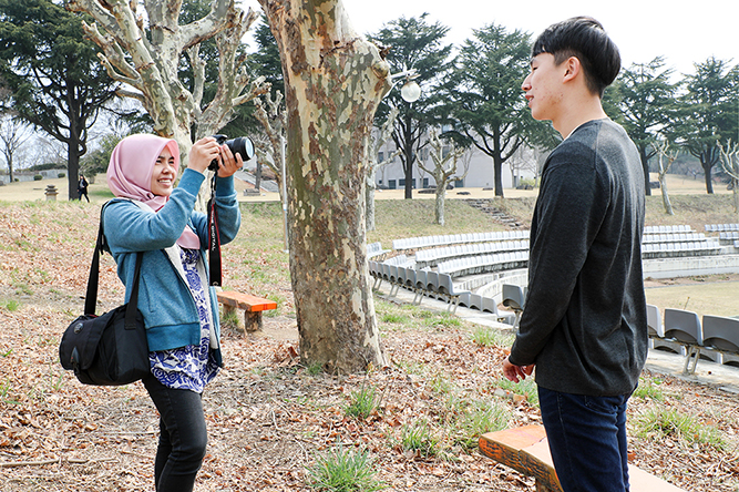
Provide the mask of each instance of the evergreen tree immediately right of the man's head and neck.
POLYGON ((658 153, 657 140, 669 130, 675 114, 677 84, 670 83, 673 71, 657 57, 649 63, 633 63, 615 84, 618 93, 618 121, 632 137, 642 157, 646 194, 649 186, 649 160, 658 153))

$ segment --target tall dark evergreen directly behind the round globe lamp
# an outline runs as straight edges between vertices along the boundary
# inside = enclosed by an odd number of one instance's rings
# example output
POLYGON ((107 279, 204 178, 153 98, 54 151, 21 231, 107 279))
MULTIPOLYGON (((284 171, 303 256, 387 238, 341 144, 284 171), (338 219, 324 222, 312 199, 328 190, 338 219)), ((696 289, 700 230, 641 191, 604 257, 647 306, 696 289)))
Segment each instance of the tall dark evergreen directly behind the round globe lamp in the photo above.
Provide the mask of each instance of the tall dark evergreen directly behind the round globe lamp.
POLYGON ((439 22, 429 24, 427 17, 428 13, 410 19, 401 17, 388 22, 379 32, 368 35, 370 41, 387 51, 387 61, 393 73, 414 69, 418 73, 415 82, 422 89, 421 98, 412 103, 403 101, 400 91, 391 91, 377 113, 377 119, 384 122, 391 109, 400 110, 392 140, 396 148, 401 151, 407 199, 413 197, 413 164, 424 145, 422 136, 434 121, 431 109, 442 101, 440 88, 452 68, 452 45, 442 43, 449 28, 439 22))

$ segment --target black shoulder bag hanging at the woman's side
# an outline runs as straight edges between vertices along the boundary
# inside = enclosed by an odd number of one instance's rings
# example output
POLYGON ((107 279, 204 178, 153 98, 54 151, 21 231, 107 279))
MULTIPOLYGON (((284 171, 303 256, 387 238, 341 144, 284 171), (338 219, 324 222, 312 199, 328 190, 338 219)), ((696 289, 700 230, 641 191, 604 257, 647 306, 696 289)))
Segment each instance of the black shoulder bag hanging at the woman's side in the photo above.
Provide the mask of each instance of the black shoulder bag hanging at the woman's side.
POLYGON ((66 328, 59 346, 62 367, 73 370, 84 385, 122 386, 148 375, 148 344, 144 317, 138 311, 138 277, 143 253, 136 254, 136 270, 129 303, 95 316, 100 254, 103 250, 103 209, 100 213, 97 244, 90 266, 84 315, 66 328))

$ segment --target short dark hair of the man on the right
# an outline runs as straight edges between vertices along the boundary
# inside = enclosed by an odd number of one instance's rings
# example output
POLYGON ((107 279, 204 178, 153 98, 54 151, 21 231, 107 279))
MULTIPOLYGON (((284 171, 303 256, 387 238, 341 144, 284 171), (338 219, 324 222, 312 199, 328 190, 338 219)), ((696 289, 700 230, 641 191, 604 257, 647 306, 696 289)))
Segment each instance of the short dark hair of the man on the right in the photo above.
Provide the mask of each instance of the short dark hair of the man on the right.
POLYGON ((620 71, 618 47, 608 38, 601 22, 592 17, 574 17, 550 25, 534 42, 531 55, 554 55, 558 65, 576 57, 585 71, 587 88, 603 98, 603 92, 620 71))

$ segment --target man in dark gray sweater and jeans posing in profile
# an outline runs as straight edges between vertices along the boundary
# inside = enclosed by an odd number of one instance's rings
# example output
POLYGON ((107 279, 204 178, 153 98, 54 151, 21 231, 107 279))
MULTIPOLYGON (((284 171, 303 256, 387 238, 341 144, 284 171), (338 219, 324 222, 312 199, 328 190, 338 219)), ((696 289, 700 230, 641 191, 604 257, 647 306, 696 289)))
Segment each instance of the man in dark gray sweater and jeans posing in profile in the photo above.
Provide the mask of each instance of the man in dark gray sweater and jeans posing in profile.
POLYGON ((564 141, 542 171, 528 294, 503 372, 519 382, 535 366, 565 492, 628 491, 626 404, 647 357, 644 173, 601 103, 619 70, 603 25, 575 18, 538 37, 522 85, 534 119, 564 141))

